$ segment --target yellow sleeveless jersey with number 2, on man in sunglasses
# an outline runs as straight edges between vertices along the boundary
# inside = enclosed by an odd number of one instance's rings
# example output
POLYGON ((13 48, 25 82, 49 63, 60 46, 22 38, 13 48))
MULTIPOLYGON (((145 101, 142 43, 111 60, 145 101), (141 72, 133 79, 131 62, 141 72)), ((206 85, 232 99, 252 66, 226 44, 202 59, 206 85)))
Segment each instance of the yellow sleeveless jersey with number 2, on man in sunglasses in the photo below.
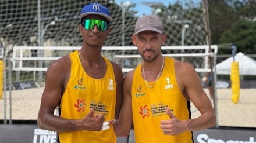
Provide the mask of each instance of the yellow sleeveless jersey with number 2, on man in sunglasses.
MULTIPOLYGON (((102 56, 103 57, 103 56, 102 56)), ((105 120, 115 118, 116 80, 112 64, 104 58, 107 71, 102 79, 93 79, 86 74, 77 50, 70 53, 71 72, 65 93, 59 104, 60 116, 65 119, 83 119, 90 108, 95 113, 105 114, 105 120)), ((116 136, 111 126, 104 131, 72 131, 58 133, 60 143, 116 142, 116 136)))

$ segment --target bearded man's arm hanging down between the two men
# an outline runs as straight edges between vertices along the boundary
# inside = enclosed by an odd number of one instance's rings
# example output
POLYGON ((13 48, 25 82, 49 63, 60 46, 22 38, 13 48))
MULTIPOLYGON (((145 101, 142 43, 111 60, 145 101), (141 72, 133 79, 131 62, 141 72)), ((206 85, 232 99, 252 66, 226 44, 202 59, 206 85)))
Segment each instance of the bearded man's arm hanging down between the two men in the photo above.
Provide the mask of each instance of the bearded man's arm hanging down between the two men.
POLYGON ((133 115, 131 111, 131 87, 133 81, 133 72, 126 74, 123 81, 123 104, 119 114, 118 122, 113 124, 116 137, 125 137, 130 134, 133 125, 133 115))

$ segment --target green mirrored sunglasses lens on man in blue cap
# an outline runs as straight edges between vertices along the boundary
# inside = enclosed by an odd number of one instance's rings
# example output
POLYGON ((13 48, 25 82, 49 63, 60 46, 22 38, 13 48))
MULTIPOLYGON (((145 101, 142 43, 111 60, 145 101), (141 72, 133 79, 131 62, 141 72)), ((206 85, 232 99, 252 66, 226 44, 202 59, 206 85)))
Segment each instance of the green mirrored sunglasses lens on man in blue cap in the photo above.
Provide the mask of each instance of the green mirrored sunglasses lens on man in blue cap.
POLYGON ((94 25, 97 25, 99 31, 106 31, 108 30, 108 23, 104 20, 97 20, 97 19, 87 19, 84 21, 84 28, 86 30, 93 30, 94 25))

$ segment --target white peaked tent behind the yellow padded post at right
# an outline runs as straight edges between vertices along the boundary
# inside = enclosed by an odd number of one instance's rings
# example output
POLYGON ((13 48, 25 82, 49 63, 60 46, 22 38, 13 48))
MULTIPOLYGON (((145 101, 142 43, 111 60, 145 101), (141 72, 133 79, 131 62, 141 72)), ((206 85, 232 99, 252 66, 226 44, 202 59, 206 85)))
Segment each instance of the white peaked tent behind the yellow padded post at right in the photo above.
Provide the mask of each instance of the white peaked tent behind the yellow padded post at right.
MULTIPOLYGON (((234 60, 239 62, 239 74, 240 75, 256 75, 256 61, 243 53, 239 52, 234 56, 234 60)), ((233 57, 229 57, 226 60, 216 65, 218 75, 230 75, 231 63, 233 57)))

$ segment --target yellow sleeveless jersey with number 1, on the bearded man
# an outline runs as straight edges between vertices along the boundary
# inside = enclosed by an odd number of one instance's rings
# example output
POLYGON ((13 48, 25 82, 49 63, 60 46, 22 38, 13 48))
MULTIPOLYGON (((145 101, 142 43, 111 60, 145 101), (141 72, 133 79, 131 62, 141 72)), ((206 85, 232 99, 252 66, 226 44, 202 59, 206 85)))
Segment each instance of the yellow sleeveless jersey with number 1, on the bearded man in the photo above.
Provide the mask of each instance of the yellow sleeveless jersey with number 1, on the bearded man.
POLYGON ((146 85, 141 76, 141 64, 138 65, 133 75, 131 96, 136 143, 193 142, 191 131, 170 136, 164 135, 160 128, 161 120, 170 119, 166 114, 166 107, 169 107, 170 112, 179 120, 191 118, 190 102, 183 97, 176 82, 173 58, 165 57, 162 75, 152 88, 146 85))

